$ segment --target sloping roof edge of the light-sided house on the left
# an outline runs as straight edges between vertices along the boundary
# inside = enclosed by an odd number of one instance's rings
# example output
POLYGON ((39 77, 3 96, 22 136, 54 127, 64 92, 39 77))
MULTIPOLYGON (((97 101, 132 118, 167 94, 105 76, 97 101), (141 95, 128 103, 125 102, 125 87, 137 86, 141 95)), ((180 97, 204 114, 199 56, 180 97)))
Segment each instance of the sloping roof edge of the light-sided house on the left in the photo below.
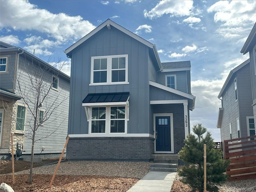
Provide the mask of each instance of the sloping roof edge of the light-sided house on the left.
POLYGON ((37 60, 38 62, 48 66, 49 68, 51 68, 52 70, 54 70, 55 72, 59 73, 59 75, 61 77, 63 77, 64 79, 70 81, 70 76, 68 76, 67 74, 65 74, 64 72, 58 70, 57 68, 51 66, 50 64, 44 62, 43 60, 41 60, 40 58, 34 56, 33 54, 31 54, 30 52, 27 52, 26 50, 20 48, 20 47, 16 47, 16 46, 12 46, 12 45, 9 45, 5 42, 2 42, 0 41, 0 52, 3 53, 3 52, 11 52, 11 51, 18 51, 18 52, 24 52, 26 53, 28 56, 30 56, 31 58, 33 58, 34 60, 37 60))

